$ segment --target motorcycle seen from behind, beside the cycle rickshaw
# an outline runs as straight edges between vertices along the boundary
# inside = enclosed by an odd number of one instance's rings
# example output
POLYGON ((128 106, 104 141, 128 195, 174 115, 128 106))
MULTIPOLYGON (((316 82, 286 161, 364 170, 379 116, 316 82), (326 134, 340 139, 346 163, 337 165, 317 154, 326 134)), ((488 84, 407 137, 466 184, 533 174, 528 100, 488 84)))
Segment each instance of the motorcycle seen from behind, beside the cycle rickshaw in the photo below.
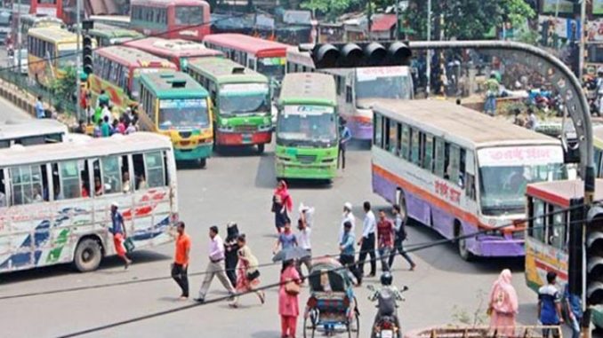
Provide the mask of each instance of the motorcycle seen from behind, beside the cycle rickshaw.
POLYGON ((382 287, 379 290, 374 286, 366 286, 373 295, 368 299, 371 302, 378 301, 375 306, 378 310, 377 316, 374 319, 371 338, 401 338, 402 332, 398 321, 398 303, 396 301, 404 301, 402 293, 408 291, 408 287, 403 287, 398 291, 390 287, 382 287))

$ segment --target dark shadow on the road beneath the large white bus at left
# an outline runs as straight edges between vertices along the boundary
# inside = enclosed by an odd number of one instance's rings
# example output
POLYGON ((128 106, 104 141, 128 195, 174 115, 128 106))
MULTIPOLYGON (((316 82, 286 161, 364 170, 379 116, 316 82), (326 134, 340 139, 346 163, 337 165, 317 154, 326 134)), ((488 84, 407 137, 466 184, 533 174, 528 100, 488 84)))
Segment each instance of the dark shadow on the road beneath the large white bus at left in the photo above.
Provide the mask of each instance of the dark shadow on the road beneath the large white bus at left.
MULTIPOLYGON (((133 252, 130 257, 133 259, 133 265, 144 264, 144 263, 153 263, 157 261, 165 261, 171 260, 172 257, 168 255, 158 254, 153 251, 136 251, 133 252)), ((101 266, 98 271, 93 273, 103 273, 103 274, 114 274, 115 271, 111 271, 110 269, 115 269, 117 267, 121 267, 124 265, 124 261, 122 261, 117 256, 111 256, 107 258, 103 258, 101 266)), ((132 268, 132 267, 131 267, 132 268)), ((52 266, 46 266, 43 268, 37 268, 32 270, 25 271, 14 271, 4 273, 2 275, 2 279, 0 279, 0 285, 7 285, 12 283, 19 283, 22 281, 27 281, 31 279, 45 279, 50 277, 58 277, 62 275, 79 273, 75 267, 71 263, 58 264, 52 266)))

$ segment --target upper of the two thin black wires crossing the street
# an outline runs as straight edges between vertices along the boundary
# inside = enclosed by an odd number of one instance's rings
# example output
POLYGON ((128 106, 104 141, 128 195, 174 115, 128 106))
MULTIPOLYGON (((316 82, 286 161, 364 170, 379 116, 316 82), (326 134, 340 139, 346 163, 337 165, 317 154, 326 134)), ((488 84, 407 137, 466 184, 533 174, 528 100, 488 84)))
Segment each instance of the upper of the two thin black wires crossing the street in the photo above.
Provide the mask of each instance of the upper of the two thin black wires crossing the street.
MULTIPOLYGON (((599 202, 599 201, 595 201, 595 202, 599 202)), ((540 215, 540 216, 533 216, 533 217, 529 217, 529 218, 520 219, 519 222, 526 223, 526 222, 529 222, 529 221, 534 220, 536 218, 554 216, 554 215, 557 215, 559 213, 564 213, 564 212, 567 212, 567 211, 571 211, 571 210, 573 210, 575 208, 584 208, 585 206, 586 206, 586 204, 578 204, 578 205, 571 206, 571 207, 568 207, 568 208, 561 208, 559 210, 554 210, 554 211, 545 213, 545 214, 540 215)), ((575 223, 575 222, 582 223, 583 221, 584 220, 572 221, 570 224, 575 223)), ((405 247, 406 247, 405 252, 406 253, 410 253, 410 252, 414 252, 417 249, 421 250, 423 248, 430 248, 431 246, 438 246, 438 245, 442 245, 442 244, 454 242, 454 241, 457 241, 457 240, 470 239, 472 237, 476 237, 476 236, 478 236, 480 234, 484 234, 484 233, 487 233, 487 232, 493 232, 493 231, 502 230, 504 228, 507 228, 507 227, 513 225, 513 224, 514 224, 513 222, 511 222, 509 224, 502 224, 502 225, 499 225, 499 226, 496 226, 496 227, 492 227, 492 228, 487 228, 487 229, 484 229, 484 230, 480 230, 478 232, 471 232, 471 233, 463 234, 462 236, 455 236, 452 239, 442 239, 442 240, 436 240, 436 241, 430 241, 430 242, 408 244, 408 245, 405 245, 405 247), (425 246, 428 246, 428 247, 425 247, 425 246)), ((532 228, 533 229, 537 229, 539 227, 540 226, 535 226, 535 227, 532 227, 532 228)), ((376 248, 375 248, 375 250, 376 250, 376 248)), ((357 251, 355 251, 354 254, 356 255, 356 254, 360 254, 362 252, 363 252, 362 250, 357 250, 357 251)), ((332 257, 337 257, 339 255, 341 255, 341 254, 337 253, 337 254, 316 255, 316 256, 312 256, 311 258, 332 258, 332 257)), ((390 255, 396 255, 396 253, 392 252, 392 253, 390 253, 390 255)), ((258 268, 264 268, 264 267, 274 266, 274 265, 277 265, 277 264, 280 264, 280 263, 278 263, 278 262, 276 262, 276 263, 275 262, 272 262, 272 263, 261 263, 257 267, 258 268)), ((237 271, 237 268, 223 269, 221 271, 237 271)), ((215 272, 215 271, 213 271, 213 272, 215 272)), ((198 272, 189 273, 188 276, 203 276, 203 275, 205 275, 207 273, 209 273, 209 272, 198 271, 198 272)), ((62 294, 62 293, 68 293, 68 292, 84 291, 84 290, 88 290, 88 289, 98 289, 98 288, 103 288, 103 287, 120 287, 120 286, 125 286, 125 285, 141 284, 141 283, 148 283, 148 282, 160 281, 160 280, 168 280, 168 279, 172 279, 172 277, 170 277, 170 276, 151 277, 151 278, 148 278, 148 279, 124 280, 124 281, 119 281, 119 282, 115 282, 115 283, 106 283, 106 284, 92 285, 92 286, 68 287, 68 288, 60 288, 60 289, 54 289, 54 290, 48 290, 48 291, 40 291, 40 292, 33 292, 33 293, 16 294, 16 295, 4 295, 4 296, 0 296, 0 301, 9 300, 9 299, 15 299, 15 298, 31 297, 31 296, 37 296, 37 295, 62 294)))

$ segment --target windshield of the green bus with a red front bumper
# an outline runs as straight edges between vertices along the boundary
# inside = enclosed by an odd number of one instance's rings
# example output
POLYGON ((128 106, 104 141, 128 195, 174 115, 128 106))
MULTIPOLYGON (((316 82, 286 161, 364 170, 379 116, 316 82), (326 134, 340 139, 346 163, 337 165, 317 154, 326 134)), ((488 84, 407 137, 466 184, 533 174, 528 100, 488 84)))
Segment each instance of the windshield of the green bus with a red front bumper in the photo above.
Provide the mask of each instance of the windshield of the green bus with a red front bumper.
POLYGON ((224 84, 220 89, 221 114, 265 113, 270 110, 268 84, 224 84))

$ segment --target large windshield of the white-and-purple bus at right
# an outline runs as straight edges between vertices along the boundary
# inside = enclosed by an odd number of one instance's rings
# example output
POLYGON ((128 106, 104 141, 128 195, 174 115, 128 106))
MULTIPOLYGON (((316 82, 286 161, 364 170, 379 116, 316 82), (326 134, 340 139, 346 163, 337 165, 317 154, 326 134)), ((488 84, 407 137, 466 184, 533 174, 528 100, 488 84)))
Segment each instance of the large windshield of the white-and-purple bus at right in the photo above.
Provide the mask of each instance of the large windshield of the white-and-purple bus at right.
POLYGON ((560 146, 494 147, 478 151, 482 214, 526 211, 526 185, 567 178, 560 146))

